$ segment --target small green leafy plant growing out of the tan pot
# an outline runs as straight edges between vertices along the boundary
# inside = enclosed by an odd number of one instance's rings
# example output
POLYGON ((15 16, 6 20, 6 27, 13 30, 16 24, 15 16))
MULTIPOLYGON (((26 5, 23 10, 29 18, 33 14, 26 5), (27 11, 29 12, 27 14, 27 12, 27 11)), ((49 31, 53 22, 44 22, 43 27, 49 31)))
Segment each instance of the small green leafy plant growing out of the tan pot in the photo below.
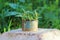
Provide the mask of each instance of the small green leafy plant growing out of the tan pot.
MULTIPOLYGON (((19 14, 16 16, 19 16, 19 14)), ((38 20, 39 13, 36 10, 34 10, 34 11, 23 10, 22 14, 20 14, 20 17, 24 20, 38 20)))

